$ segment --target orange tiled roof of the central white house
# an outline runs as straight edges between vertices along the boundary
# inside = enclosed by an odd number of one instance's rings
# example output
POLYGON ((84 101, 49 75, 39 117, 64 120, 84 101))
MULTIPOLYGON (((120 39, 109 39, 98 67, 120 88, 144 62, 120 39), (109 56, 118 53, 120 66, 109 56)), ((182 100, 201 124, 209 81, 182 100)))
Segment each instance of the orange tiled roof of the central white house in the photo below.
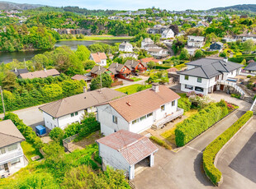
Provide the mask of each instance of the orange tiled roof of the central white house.
POLYGON ((114 99, 107 104, 116 110, 127 122, 152 113, 163 104, 179 99, 180 96, 164 85, 159 85, 159 92, 152 89, 142 90, 133 95, 114 99))

